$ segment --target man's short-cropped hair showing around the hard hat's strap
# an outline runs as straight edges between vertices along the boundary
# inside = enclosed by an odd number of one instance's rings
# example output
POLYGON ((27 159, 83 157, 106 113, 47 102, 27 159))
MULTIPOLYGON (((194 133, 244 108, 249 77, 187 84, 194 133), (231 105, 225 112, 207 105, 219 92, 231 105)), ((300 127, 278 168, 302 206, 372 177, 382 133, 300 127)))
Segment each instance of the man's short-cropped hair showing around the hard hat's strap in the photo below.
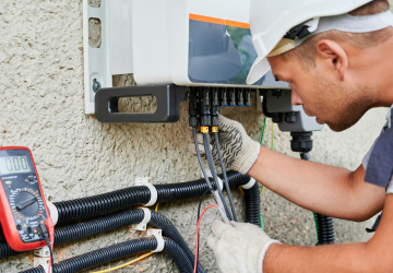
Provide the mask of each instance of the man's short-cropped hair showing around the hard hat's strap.
MULTIPOLYGON (((349 12, 350 15, 369 15, 389 10, 388 0, 373 0, 360 8, 349 12)), ((295 56, 306 68, 313 68, 315 66, 314 57, 317 55, 317 44, 322 39, 332 39, 336 41, 347 43, 356 48, 368 48, 383 43, 392 33, 386 28, 368 32, 368 33, 346 33, 336 29, 319 33, 309 39, 305 40, 300 46, 285 54, 282 54, 283 59, 288 59, 295 56)))

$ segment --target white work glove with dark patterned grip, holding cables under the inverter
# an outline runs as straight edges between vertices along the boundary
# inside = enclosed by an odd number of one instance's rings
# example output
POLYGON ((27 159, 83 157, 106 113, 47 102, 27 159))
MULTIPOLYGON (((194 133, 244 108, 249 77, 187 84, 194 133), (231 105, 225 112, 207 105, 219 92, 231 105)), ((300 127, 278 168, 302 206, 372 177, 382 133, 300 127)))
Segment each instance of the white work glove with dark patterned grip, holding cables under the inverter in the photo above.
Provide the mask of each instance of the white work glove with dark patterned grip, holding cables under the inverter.
MULTIPOLYGON (((211 136, 214 163, 219 166, 214 134, 211 134, 211 136)), ((200 144, 200 152, 204 154, 202 133, 198 133, 196 139, 200 144)), ((227 119, 222 115, 219 115, 218 141, 225 167, 247 174, 258 158, 260 144, 247 134, 241 123, 227 119)), ((191 144, 189 149, 195 154, 194 144, 191 144)))

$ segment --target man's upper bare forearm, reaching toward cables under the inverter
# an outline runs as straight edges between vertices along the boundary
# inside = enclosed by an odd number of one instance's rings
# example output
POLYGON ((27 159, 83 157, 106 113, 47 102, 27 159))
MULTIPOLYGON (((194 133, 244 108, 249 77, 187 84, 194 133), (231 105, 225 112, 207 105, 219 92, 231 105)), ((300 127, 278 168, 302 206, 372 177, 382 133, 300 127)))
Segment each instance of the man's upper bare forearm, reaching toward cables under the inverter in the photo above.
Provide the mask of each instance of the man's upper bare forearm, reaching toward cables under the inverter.
POLYGON ((248 174, 285 199, 327 216, 364 221, 383 206, 383 189, 362 181, 362 167, 353 173, 261 147, 248 174))

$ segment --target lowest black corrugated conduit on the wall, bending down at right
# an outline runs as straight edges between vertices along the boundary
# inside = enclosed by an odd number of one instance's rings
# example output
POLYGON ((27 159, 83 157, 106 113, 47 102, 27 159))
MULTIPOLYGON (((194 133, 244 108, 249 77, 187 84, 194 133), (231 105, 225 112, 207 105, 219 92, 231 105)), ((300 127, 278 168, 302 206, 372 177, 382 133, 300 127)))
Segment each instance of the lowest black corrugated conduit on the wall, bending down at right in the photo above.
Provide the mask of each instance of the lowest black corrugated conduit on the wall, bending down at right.
MULTIPOLYGON (((193 266, 182 249, 171 239, 163 237, 165 241, 164 252, 170 256, 175 261, 180 273, 190 273, 193 266)), ((154 236, 123 241, 110 247, 97 249, 71 259, 53 264, 53 273, 74 273, 80 272, 99 264, 111 262, 131 254, 140 252, 154 251, 157 248, 157 239, 154 236)), ((39 266, 23 273, 45 273, 45 270, 39 266)))

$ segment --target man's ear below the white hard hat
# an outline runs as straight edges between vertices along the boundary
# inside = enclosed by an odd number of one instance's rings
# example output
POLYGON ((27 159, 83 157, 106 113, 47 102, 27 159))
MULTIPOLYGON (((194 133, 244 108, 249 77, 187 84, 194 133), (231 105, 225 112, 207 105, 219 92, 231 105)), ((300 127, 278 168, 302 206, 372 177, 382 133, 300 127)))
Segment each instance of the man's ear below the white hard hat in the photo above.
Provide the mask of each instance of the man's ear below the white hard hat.
POLYGON ((335 70, 340 80, 344 80, 348 56, 342 46, 331 39, 322 39, 317 44, 317 58, 326 63, 327 69, 335 70))

